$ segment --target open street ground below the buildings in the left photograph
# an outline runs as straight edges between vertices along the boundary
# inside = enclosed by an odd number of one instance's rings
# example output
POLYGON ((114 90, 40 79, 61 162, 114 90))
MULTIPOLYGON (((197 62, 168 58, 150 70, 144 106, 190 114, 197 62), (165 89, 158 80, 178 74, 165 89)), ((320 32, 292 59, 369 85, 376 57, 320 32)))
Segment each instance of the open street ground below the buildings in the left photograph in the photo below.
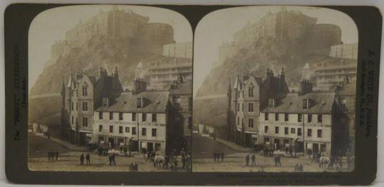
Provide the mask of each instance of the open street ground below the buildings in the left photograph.
MULTIPOLYGON (((91 164, 80 165, 80 154, 87 154, 85 151, 73 151, 46 137, 33 134, 29 135, 28 144, 33 145, 28 150, 28 168, 35 171, 129 171, 129 164, 132 162, 137 162, 138 171, 171 171, 155 170, 154 162, 146 162, 143 155, 137 152, 132 152, 132 157, 117 155, 114 166, 110 166, 108 156, 99 156, 95 152, 90 152, 91 164), (48 161, 47 152, 50 150, 58 150, 58 161, 48 161)), ((178 171, 185 171, 181 169, 181 165, 178 158, 178 171)))

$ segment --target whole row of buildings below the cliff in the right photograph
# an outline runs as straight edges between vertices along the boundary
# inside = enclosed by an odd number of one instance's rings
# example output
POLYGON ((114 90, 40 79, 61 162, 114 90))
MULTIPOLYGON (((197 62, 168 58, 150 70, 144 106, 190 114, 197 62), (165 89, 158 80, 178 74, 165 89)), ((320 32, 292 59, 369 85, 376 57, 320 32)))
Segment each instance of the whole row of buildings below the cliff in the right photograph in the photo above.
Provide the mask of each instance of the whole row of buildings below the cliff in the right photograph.
POLYGON ((227 134, 221 136, 245 147, 294 147, 328 155, 346 151, 354 141, 355 85, 346 79, 334 90, 314 91, 303 79, 298 91, 289 91, 284 69, 277 77, 267 69, 265 79, 252 72, 238 75, 228 88, 227 134))

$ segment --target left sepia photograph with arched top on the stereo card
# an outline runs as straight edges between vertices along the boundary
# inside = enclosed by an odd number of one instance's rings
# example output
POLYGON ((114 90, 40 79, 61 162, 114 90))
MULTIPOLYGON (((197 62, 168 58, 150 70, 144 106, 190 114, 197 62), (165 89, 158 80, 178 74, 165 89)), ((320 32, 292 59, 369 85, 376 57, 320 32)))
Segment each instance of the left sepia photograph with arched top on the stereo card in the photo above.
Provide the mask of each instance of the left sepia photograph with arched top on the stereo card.
POLYGON ((28 31, 28 169, 191 171, 192 29, 165 8, 50 8, 28 31))

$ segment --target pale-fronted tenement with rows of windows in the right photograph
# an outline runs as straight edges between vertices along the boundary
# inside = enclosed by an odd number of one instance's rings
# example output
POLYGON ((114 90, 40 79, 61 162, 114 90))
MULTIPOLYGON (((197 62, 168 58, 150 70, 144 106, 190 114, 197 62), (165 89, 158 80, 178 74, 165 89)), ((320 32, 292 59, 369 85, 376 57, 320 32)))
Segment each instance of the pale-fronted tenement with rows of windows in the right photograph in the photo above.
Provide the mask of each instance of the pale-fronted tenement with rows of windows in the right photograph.
POLYGON ((260 111, 259 138, 277 150, 292 147, 294 152, 334 154, 348 147, 348 118, 336 103, 334 91, 313 91, 308 80, 298 92, 283 98, 267 98, 260 111))

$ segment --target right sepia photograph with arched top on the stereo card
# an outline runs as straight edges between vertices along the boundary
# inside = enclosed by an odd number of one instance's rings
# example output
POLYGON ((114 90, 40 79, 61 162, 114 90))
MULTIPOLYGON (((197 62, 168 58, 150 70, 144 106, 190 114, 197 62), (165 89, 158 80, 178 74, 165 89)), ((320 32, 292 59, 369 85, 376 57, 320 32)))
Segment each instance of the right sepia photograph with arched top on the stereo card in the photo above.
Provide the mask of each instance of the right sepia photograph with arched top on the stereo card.
POLYGON ((193 171, 353 171, 358 30, 349 16, 225 8, 194 36, 193 171))

